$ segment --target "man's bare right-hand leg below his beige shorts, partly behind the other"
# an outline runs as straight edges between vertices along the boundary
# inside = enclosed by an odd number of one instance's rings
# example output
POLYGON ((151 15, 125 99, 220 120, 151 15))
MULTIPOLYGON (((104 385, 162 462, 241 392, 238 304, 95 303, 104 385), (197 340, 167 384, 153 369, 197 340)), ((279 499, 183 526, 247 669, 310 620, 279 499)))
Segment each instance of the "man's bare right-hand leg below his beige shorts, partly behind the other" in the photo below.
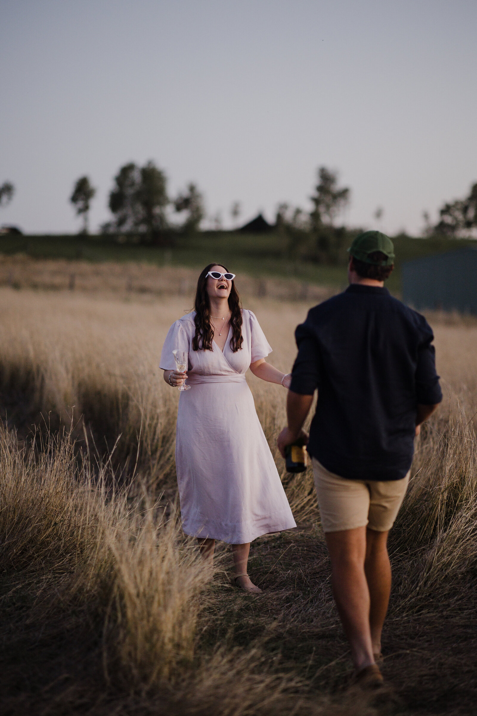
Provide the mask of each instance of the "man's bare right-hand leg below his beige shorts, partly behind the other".
POLYGON ((365 575, 370 594, 370 633, 373 654, 381 651, 381 632, 391 592, 391 566, 386 546, 389 532, 366 530, 365 575))

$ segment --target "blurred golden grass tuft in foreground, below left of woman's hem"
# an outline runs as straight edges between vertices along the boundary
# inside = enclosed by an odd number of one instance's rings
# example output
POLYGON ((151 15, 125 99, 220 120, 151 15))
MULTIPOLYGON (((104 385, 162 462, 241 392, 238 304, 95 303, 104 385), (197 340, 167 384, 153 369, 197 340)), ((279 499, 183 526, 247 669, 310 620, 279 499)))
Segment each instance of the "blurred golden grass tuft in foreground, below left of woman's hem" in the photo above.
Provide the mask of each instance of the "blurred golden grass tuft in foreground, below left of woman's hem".
POLYGON ((147 690, 177 679, 192 662, 199 597, 212 576, 192 544, 181 539, 174 512, 169 519, 164 510, 159 515, 147 506, 134 511, 127 529, 106 533, 114 558, 111 629, 107 624, 114 640, 108 654, 124 681, 147 690))

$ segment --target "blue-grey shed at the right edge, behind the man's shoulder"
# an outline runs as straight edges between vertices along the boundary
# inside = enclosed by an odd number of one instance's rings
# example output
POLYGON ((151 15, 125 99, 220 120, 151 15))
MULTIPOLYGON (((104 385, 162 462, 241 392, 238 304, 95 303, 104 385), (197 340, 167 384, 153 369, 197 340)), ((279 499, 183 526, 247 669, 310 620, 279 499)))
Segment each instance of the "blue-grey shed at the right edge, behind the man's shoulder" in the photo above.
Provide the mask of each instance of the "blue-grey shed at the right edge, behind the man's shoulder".
POLYGON ((477 247, 405 261, 401 276, 403 301, 418 311, 477 314, 477 247))

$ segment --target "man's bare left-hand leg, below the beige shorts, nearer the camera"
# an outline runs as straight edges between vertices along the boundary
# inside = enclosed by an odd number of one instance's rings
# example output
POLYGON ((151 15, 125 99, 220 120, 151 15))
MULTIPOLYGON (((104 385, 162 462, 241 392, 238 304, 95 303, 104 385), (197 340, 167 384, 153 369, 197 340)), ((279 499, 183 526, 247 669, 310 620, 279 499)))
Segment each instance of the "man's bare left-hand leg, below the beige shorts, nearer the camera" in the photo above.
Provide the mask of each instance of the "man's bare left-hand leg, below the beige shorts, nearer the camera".
POLYGON ((365 575, 366 528, 325 533, 333 595, 356 671, 374 664, 370 593, 365 575))

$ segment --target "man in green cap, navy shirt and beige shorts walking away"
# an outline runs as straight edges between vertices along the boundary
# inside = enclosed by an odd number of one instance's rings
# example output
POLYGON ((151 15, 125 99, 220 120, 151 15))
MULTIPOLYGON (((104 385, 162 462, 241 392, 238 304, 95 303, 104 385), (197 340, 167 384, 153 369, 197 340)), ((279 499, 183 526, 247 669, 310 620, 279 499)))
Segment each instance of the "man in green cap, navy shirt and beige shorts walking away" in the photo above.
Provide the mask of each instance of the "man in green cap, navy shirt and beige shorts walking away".
POLYGON ((384 288, 393 242, 366 231, 349 249, 350 286, 297 327, 297 359, 278 448, 298 437, 318 388, 308 453, 331 559, 333 595, 355 680, 383 677, 381 631, 391 586, 386 547, 408 486, 414 437, 442 400, 433 332, 384 288))

